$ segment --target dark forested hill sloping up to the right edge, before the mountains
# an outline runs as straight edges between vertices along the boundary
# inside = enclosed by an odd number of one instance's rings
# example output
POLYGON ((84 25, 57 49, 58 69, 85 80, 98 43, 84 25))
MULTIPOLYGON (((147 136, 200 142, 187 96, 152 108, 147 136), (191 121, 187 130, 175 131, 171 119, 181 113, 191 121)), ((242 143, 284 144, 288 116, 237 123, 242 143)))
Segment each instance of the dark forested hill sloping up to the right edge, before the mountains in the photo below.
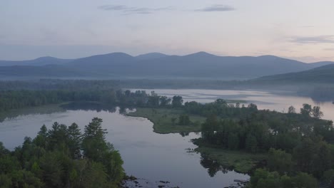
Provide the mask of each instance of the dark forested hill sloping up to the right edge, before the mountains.
POLYGON ((334 65, 320 66, 298 73, 264 76, 254 80, 260 83, 334 83, 334 65))

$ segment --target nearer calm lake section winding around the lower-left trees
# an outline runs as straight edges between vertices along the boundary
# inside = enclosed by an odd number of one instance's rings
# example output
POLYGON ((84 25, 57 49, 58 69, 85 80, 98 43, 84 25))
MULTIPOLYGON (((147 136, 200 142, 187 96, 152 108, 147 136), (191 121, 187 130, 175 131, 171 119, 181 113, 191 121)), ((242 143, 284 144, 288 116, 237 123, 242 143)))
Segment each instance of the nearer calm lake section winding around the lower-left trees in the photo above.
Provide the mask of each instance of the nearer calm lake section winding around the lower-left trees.
POLYGON ((248 179, 248 175, 228 171, 208 175, 208 169, 201 166, 201 155, 188 152, 196 148, 191 139, 180 134, 161 135, 153 132, 153 123, 142 117, 128 117, 108 110, 65 110, 46 114, 30 114, 11 117, 0 123, 0 140, 9 149, 21 145, 23 137, 35 137, 41 125, 51 127, 53 122, 71 125, 76 122, 83 130, 93 117, 103 119, 107 129, 106 140, 120 151, 123 167, 128 175, 151 182, 168 181, 178 187, 226 187, 233 179, 248 179))

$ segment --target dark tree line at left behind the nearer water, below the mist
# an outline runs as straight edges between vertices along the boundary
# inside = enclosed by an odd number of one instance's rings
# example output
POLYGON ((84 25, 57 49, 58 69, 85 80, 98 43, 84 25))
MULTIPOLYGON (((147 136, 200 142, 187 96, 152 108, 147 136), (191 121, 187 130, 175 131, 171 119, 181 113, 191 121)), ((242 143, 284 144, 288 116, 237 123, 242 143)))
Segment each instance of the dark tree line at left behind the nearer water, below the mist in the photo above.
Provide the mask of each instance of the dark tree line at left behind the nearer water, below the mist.
POLYGON ((181 96, 173 99, 151 95, 145 90, 2 90, 0 91, 0 113, 12 109, 34 107, 64 102, 98 102, 126 107, 171 107, 182 106, 181 96))

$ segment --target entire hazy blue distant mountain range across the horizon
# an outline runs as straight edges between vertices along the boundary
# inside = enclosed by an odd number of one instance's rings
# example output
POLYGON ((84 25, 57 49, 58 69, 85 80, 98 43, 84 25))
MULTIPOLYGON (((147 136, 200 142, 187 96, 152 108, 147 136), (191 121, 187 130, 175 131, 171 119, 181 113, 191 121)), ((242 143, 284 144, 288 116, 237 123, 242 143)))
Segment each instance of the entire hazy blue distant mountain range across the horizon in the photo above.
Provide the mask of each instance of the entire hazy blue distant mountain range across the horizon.
POLYGON ((0 61, 0 77, 246 80, 308 71, 333 63, 303 63, 277 56, 215 56, 205 52, 187 56, 168 56, 163 53, 130 56, 126 53, 108 53, 77 59, 43 57, 30 61, 0 61))

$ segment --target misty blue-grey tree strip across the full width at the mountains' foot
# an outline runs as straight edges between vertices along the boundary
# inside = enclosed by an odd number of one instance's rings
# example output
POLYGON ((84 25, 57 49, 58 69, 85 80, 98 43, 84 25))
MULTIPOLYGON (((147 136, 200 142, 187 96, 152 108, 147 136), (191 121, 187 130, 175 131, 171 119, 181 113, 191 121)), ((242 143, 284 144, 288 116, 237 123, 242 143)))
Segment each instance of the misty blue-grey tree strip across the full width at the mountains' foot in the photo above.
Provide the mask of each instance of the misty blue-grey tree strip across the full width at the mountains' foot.
POLYGON ((120 88, 200 88, 200 89, 261 89, 289 90, 297 95, 308 96, 317 101, 334 100, 334 87, 330 84, 282 85, 258 83, 257 80, 2 80, 0 90, 118 90, 120 88))

